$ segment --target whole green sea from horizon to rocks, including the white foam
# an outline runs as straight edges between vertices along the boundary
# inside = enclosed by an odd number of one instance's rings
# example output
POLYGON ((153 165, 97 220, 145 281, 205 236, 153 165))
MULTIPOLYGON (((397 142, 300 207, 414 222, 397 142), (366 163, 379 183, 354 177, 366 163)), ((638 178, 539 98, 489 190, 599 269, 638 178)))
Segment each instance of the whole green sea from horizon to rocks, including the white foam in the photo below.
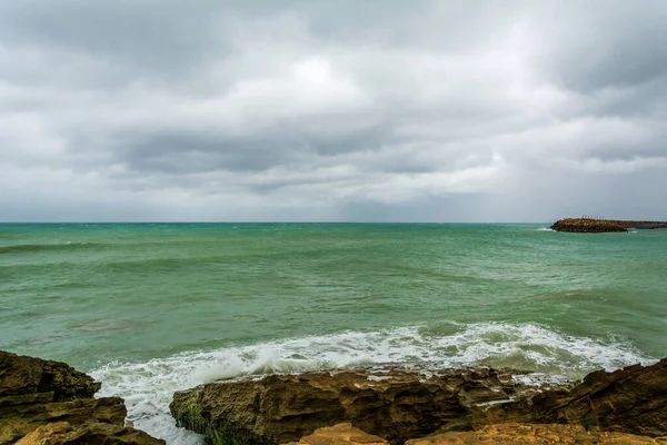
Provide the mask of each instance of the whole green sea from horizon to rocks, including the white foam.
POLYGON ((70 363, 170 444, 175 390, 397 363, 549 378, 667 356, 667 230, 0 225, 0 349, 70 363))

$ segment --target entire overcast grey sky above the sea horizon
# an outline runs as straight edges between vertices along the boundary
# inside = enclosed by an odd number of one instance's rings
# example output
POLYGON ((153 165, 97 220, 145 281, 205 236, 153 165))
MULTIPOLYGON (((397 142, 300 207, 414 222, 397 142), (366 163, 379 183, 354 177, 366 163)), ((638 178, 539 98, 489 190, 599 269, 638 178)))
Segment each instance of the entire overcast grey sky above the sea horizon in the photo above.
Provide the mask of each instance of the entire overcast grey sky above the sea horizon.
POLYGON ((667 219, 665 23, 657 0, 0 0, 0 220, 667 219))

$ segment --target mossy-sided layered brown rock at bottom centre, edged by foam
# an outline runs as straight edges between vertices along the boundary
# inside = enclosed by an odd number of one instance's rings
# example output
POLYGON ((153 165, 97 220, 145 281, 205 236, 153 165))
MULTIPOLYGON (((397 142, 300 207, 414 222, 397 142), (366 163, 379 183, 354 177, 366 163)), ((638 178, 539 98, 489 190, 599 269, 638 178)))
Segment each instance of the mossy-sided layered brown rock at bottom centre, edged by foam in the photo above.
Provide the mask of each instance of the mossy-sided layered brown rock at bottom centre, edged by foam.
POLYGON ((213 444, 295 442, 341 422, 402 444, 466 416, 472 406, 520 396, 527 388, 511 374, 481 368, 432 376, 399 369, 272 375, 177 393, 170 409, 180 426, 213 444))

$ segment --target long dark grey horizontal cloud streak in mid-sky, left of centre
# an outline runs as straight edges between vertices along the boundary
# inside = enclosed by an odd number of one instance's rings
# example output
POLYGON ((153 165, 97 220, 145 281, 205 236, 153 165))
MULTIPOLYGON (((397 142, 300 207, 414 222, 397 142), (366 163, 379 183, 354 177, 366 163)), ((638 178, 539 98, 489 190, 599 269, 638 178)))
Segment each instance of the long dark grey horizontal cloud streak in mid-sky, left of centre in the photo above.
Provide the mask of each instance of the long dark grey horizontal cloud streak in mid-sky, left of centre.
MULTIPOLYGON (((338 155, 372 152, 387 142, 388 129, 368 129, 336 135, 292 128, 271 129, 248 137, 205 131, 161 130, 130 134, 109 149, 115 161, 138 174, 197 174, 215 170, 261 171, 279 166, 297 166, 318 160, 335 162, 338 155), (328 161, 327 161, 328 159, 328 161)), ((374 168, 372 165, 367 166, 374 168)), ((398 166, 397 166, 398 168, 398 166)), ((406 166, 408 170, 415 168, 406 166)))

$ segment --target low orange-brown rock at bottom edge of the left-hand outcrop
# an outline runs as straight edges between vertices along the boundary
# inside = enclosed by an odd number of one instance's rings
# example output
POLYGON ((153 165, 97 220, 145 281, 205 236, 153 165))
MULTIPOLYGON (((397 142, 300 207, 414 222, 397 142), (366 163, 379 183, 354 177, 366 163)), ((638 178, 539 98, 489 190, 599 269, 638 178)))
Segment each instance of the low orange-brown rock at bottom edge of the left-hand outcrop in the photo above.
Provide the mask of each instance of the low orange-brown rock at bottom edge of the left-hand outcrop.
POLYGON ((165 445, 165 441, 122 425, 59 422, 40 426, 17 445, 165 445))

